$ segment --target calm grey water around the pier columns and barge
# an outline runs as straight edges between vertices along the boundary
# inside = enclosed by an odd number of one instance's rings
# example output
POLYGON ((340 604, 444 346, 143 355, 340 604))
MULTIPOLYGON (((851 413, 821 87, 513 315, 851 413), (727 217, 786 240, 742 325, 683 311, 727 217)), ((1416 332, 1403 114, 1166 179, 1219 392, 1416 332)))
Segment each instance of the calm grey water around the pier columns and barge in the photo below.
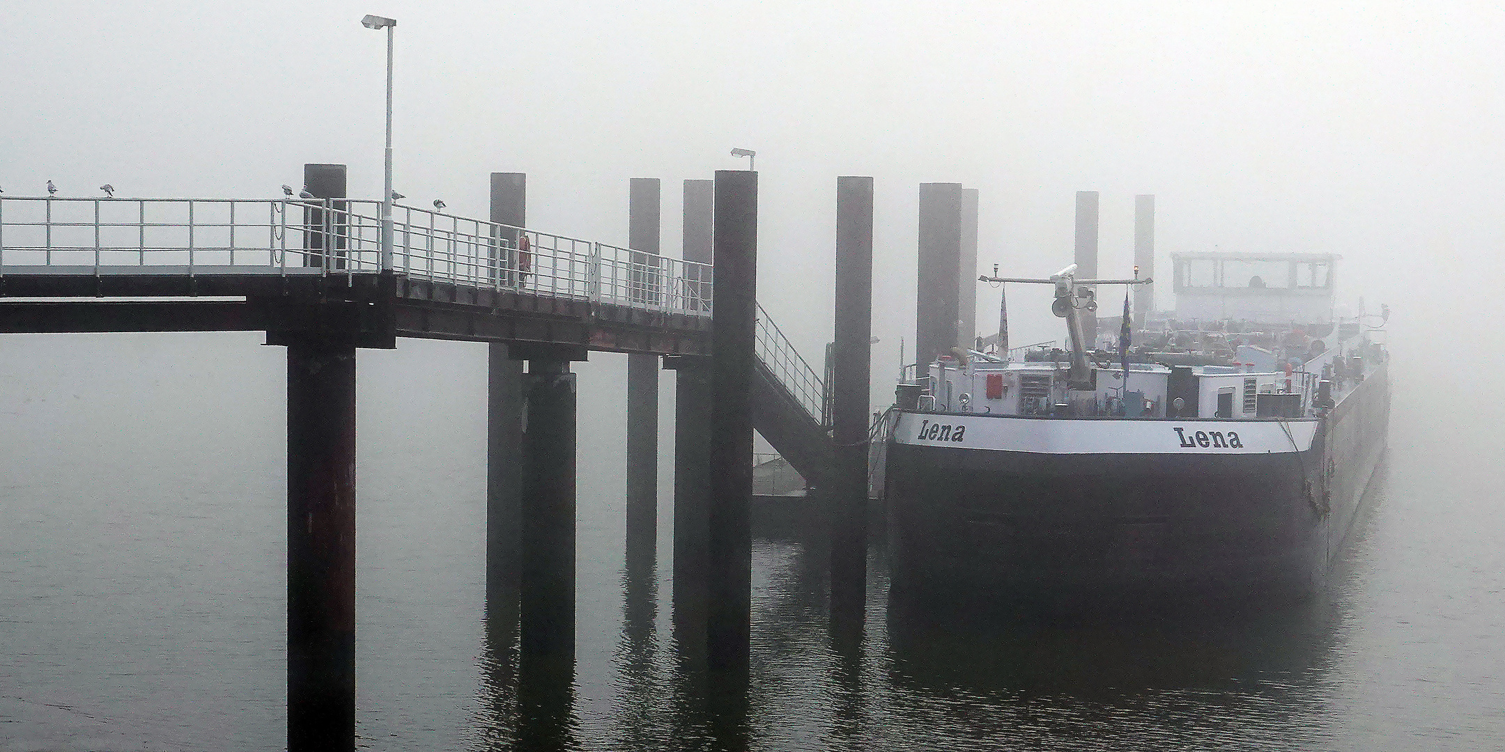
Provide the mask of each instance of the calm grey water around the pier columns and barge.
MULTIPOLYGON (((283 350, 259 341, 0 338, 0 750, 283 746, 283 350)), ((361 746, 506 749, 533 726, 485 629, 485 350, 360 358, 361 746)), ((728 731, 676 659, 667 441, 658 566, 625 567, 625 362, 578 368, 578 668, 554 728, 578 749, 1505 749, 1505 409, 1419 387, 1463 374, 1395 373, 1368 511, 1300 608, 942 626, 888 614, 874 552, 864 644, 838 653, 820 535, 762 529, 728 731)))

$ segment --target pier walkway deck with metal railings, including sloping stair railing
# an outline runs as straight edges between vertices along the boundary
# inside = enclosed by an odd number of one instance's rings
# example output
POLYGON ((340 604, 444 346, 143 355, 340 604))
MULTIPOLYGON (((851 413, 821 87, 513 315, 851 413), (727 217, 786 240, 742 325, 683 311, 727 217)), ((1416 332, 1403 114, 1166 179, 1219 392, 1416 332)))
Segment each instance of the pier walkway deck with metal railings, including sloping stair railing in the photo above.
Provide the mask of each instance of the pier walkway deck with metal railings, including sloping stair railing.
MULTIPOLYGON (((709 355, 712 266, 381 202, 0 196, 0 332, 343 332, 709 355)), ((759 430, 807 478, 823 384, 759 308, 759 430)), ((751 457, 749 457, 751 462, 751 457)))

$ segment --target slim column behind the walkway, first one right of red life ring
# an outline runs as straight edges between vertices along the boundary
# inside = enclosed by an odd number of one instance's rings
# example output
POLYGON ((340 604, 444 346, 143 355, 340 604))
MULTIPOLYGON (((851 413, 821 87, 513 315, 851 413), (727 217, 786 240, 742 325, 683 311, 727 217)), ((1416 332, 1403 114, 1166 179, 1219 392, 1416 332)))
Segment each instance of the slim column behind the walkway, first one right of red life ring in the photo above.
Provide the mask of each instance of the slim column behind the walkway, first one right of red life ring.
MULTIPOLYGON (((659 180, 634 177, 628 197, 628 247, 641 269, 646 293, 662 295, 662 272, 649 268, 659 256, 659 180)), ((658 544, 658 387, 659 356, 628 355, 628 547, 658 544)))

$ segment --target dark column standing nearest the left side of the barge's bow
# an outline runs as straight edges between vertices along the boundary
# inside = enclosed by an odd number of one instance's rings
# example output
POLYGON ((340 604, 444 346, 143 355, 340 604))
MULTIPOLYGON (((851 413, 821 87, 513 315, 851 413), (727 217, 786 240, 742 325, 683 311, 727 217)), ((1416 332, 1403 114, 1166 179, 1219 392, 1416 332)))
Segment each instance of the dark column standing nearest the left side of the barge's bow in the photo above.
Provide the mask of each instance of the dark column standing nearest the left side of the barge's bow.
MULTIPOLYGON (((873 346, 873 179, 837 177, 831 624, 850 642, 867 599, 867 430, 873 346)), ((858 639, 859 641, 859 639, 858 639)))

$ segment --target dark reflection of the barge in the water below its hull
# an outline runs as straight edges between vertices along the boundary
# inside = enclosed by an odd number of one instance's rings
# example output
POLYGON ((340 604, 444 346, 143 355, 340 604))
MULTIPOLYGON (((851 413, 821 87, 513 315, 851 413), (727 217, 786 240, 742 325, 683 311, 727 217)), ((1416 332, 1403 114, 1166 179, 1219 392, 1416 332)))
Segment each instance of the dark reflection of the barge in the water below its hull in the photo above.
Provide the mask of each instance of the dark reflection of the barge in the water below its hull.
MULTIPOLYGON (((1353 538, 1385 484, 1382 466, 1353 538)), ((892 695, 870 716, 877 746, 927 729, 918 747, 1330 747, 1351 561, 1329 593, 1297 603, 968 618, 897 597, 879 657, 892 695)))

